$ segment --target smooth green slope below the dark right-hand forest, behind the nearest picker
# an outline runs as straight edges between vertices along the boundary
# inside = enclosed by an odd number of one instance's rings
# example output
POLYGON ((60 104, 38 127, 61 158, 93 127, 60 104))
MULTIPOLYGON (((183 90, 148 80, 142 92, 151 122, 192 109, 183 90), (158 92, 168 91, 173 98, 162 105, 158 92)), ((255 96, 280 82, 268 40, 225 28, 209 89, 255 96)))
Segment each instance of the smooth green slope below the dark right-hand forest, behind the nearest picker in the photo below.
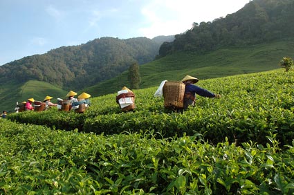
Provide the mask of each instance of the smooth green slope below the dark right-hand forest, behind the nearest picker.
MULTIPOLYGON (((179 52, 140 66, 140 89, 158 86, 163 80, 181 80, 193 75, 200 80, 244 73, 269 71, 279 67, 284 56, 293 57, 294 40, 275 41, 244 47, 227 47, 203 55, 179 52)), ((128 71, 84 89, 93 96, 115 93, 129 86, 128 71)))

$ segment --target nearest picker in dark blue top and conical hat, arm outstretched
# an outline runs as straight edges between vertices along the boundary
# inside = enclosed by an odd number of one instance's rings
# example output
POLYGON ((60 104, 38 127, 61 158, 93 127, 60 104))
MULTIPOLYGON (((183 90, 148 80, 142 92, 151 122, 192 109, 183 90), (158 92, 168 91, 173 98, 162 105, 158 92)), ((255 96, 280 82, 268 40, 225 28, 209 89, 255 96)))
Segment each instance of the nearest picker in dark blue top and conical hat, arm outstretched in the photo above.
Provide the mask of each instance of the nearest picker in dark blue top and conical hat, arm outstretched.
POLYGON ((186 75, 183 80, 181 80, 181 82, 185 84, 184 110, 187 109, 188 106, 195 105, 196 94, 203 97, 221 97, 221 95, 219 94, 214 94, 206 89, 202 89, 201 87, 194 85, 198 81, 199 79, 191 77, 190 75, 186 75))

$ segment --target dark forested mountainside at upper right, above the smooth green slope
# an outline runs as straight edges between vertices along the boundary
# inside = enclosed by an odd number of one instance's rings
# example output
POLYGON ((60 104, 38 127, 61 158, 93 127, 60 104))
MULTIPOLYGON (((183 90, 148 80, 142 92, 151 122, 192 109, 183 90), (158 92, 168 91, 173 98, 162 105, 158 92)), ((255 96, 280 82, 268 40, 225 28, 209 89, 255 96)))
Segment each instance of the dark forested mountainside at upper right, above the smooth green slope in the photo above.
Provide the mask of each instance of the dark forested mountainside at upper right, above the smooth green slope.
MULTIPOLYGON (((209 10, 209 9, 208 9, 209 10)), ((234 14, 212 22, 194 23, 160 46, 158 57, 192 50, 203 53, 223 46, 246 46, 294 36, 293 0, 253 0, 234 14)))

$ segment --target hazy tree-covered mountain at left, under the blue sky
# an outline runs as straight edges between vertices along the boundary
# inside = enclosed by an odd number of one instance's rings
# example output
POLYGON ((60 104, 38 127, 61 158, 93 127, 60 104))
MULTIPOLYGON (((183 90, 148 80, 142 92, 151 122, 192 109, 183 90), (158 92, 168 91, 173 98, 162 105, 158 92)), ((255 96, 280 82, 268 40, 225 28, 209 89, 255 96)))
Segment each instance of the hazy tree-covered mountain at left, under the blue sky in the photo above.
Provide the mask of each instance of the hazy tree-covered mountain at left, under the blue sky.
POLYGON ((57 48, 0 66, 0 81, 39 80, 82 89, 122 73, 134 62, 152 61, 158 55, 160 44, 172 41, 173 37, 160 36, 154 40, 102 37, 80 46, 57 48))

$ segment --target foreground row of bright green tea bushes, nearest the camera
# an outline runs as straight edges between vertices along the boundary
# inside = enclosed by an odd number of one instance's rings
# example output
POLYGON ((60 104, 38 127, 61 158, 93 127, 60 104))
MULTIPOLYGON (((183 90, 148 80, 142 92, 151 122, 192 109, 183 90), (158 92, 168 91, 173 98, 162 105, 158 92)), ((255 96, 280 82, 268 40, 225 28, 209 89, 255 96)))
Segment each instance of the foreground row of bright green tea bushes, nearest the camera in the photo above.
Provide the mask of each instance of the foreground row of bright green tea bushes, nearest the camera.
POLYGON ((0 194, 293 194, 294 148, 0 121, 0 194))

